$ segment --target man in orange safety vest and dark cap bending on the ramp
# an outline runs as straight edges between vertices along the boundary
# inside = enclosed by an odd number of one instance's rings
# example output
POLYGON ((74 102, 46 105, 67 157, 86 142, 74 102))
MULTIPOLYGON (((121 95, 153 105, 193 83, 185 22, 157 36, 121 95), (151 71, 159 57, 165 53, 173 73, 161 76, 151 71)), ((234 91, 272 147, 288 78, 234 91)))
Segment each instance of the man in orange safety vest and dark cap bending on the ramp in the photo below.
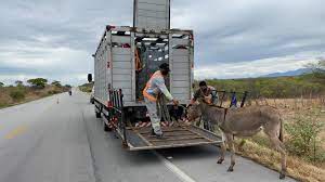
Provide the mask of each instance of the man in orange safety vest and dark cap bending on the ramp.
POLYGON ((172 98, 165 84, 165 77, 168 76, 169 72, 169 64, 162 63, 159 66, 159 70, 155 72, 155 74, 146 82, 146 86, 142 92, 145 101, 145 106, 152 121, 153 134, 157 138, 162 138, 160 118, 157 114, 158 95, 162 93, 167 98, 167 100, 172 101, 176 105, 179 104, 179 101, 172 98))

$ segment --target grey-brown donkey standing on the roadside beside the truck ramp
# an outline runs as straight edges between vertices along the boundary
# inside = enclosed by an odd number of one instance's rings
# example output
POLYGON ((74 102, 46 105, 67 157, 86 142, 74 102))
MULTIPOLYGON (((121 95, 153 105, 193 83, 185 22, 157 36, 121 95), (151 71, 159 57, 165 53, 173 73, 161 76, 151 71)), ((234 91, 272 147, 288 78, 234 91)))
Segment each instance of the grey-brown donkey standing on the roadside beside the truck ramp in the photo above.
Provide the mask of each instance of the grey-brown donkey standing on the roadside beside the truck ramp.
MULTIPOLYGON (((247 106, 240 108, 223 108, 208 105, 205 102, 192 105, 187 110, 187 118, 194 121, 200 116, 205 116, 212 123, 218 125, 222 131, 222 140, 225 141, 231 152, 231 166, 227 171, 234 170, 235 148, 234 136, 252 136, 263 129, 269 136, 274 148, 282 157, 282 169, 280 179, 286 174, 286 152, 283 144, 283 121, 278 112, 271 106, 247 106)), ((225 143, 221 144, 221 156, 218 164, 224 160, 225 143)))

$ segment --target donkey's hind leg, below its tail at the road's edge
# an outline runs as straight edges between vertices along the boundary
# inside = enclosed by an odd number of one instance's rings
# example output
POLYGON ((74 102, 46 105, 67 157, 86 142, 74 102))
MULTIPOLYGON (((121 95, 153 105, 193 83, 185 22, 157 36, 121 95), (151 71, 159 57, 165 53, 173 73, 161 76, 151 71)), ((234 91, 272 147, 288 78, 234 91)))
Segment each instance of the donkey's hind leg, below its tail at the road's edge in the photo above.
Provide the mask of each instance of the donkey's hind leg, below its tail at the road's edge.
POLYGON ((275 150, 281 154, 281 172, 280 179, 284 179, 286 177, 287 165, 286 165, 286 152, 284 144, 278 140, 277 136, 271 136, 271 142, 274 145, 275 150))

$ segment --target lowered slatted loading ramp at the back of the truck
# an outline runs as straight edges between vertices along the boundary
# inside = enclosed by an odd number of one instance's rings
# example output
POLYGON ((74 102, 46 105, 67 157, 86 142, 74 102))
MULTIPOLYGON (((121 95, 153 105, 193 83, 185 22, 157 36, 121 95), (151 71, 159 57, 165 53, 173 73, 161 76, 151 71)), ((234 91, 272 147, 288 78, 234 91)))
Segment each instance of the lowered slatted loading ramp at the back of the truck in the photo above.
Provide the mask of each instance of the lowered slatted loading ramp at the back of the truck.
POLYGON ((151 127, 128 128, 127 143, 129 151, 185 147, 221 143, 221 138, 195 126, 162 127, 164 138, 151 135, 151 127))

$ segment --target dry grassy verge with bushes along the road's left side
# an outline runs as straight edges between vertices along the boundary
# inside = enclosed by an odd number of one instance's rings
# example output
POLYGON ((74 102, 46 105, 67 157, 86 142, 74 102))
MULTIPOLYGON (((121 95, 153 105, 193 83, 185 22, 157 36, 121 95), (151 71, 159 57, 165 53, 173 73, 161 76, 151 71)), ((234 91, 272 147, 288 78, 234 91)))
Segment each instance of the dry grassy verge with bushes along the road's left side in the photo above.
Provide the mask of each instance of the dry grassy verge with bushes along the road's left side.
POLYGON ((46 86, 43 89, 30 87, 3 87, 0 88, 0 108, 27 103, 65 91, 67 91, 67 88, 55 86, 46 86))

